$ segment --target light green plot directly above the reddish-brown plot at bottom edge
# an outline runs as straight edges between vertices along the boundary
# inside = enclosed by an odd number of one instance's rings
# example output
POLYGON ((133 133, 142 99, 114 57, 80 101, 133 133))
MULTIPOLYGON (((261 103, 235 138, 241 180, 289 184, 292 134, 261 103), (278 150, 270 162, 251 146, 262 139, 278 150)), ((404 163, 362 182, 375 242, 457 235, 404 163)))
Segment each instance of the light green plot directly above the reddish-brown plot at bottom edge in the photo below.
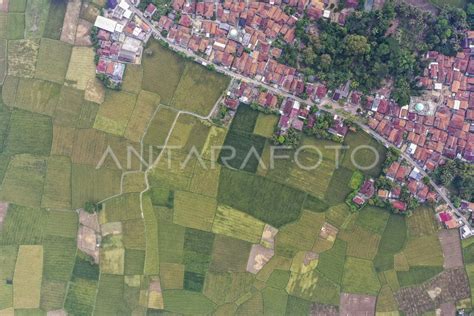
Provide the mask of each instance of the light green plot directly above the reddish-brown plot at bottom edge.
POLYGON ((372 262, 358 258, 347 258, 342 283, 347 293, 377 295, 380 290, 372 262))

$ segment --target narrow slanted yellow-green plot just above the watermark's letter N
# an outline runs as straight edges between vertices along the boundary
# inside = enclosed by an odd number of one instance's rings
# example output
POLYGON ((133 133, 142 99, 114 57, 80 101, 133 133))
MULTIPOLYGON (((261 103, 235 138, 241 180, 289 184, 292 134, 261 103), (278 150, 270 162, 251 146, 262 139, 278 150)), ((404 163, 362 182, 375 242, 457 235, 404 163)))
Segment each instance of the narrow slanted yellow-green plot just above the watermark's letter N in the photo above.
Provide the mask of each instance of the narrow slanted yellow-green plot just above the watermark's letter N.
MULTIPOLYGON (((134 142, 140 142, 150 120, 153 118, 160 97, 156 94, 142 91, 128 122, 125 137, 134 142)), ((100 112, 99 112, 100 114, 100 112)))

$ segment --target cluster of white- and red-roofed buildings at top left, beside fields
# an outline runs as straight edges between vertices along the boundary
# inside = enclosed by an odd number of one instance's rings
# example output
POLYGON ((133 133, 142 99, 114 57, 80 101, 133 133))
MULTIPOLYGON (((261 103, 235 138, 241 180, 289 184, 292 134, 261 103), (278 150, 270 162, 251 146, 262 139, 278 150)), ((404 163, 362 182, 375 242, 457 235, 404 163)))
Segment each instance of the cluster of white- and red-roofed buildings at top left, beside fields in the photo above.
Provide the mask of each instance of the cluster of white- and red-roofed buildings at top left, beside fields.
POLYGON ((118 84, 126 64, 140 64, 143 47, 152 35, 146 21, 135 15, 130 4, 121 0, 115 8, 104 10, 94 23, 97 28, 96 73, 118 84))

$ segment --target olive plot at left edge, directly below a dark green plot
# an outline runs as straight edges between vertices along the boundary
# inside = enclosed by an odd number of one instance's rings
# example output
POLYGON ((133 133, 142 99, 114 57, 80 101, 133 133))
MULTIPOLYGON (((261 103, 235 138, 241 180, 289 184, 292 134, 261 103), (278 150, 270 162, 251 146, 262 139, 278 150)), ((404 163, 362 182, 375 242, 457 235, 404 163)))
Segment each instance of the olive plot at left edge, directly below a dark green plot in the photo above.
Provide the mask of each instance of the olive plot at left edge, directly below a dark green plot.
POLYGON ((26 154, 14 156, 0 188, 0 200, 40 206, 45 173, 45 159, 26 154))

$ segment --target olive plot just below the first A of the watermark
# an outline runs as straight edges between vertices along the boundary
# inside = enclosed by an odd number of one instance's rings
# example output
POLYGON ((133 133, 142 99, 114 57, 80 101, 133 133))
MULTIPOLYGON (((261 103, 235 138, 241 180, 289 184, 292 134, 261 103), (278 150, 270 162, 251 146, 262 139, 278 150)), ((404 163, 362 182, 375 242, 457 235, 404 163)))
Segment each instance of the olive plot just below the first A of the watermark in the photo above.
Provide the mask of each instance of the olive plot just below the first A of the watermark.
POLYGON ((84 207, 88 201, 98 202, 120 192, 120 171, 93 166, 72 165, 72 207, 84 207))

